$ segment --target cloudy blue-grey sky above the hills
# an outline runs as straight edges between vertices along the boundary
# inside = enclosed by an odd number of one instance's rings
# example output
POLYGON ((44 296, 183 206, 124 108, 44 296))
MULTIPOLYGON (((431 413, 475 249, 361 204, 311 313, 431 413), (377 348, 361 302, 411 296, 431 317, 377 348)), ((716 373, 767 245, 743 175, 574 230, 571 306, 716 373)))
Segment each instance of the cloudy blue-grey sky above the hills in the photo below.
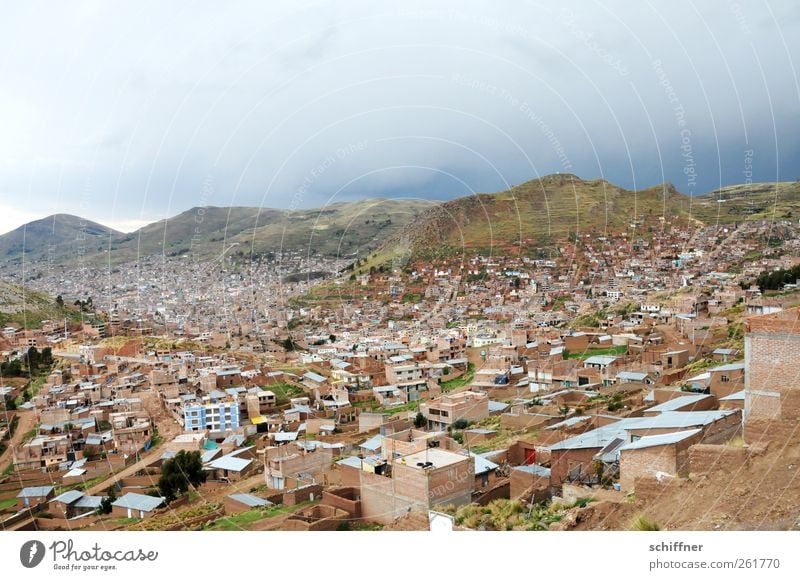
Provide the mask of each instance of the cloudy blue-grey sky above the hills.
POLYGON ((0 2, 0 232, 800 178, 800 5, 0 2))

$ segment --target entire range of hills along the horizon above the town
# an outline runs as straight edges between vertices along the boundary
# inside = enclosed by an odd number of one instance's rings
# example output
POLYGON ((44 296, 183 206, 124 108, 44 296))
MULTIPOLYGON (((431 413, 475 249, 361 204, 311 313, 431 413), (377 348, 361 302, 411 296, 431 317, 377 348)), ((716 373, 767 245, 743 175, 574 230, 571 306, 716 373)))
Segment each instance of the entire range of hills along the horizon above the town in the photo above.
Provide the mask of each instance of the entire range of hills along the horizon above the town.
MULTIPOLYGON (((725 187, 693 198, 669 183, 627 190, 602 179, 548 175, 498 193, 444 203, 365 199, 282 210, 197 207, 123 234, 75 216, 55 215, 0 236, 0 262, 118 264, 152 255, 200 259, 238 254, 435 258, 467 249, 535 254, 571 234, 627 229, 649 237, 670 220, 730 224, 800 219, 800 182, 725 187)), ((362 264, 363 268, 363 264, 362 264)))

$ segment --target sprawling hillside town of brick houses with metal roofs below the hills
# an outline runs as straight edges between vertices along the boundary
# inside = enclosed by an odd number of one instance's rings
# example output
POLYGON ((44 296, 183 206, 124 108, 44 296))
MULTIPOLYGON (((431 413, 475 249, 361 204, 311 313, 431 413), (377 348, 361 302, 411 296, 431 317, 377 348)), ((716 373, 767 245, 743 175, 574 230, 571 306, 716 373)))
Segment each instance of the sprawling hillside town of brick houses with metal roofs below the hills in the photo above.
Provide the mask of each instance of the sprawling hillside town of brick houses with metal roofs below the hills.
POLYGON ((2 329, 0 526, 627 529, 797 427, 799 230, 9 270, 73 312, 2 329))

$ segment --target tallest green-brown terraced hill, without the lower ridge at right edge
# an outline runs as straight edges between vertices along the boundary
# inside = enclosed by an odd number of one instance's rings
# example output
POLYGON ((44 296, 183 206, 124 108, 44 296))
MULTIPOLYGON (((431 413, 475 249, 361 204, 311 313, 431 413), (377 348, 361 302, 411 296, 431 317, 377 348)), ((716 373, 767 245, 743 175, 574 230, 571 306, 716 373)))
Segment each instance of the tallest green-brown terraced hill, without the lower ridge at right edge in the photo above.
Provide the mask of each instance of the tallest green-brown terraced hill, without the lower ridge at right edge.
POLYGON ((557 174, 506 191, 462 197, 432 208, 387 242, 371 262, 471 252, 504 254, 545 248, 570 234, 603 235, 659 218, 688 219, 689 198, 671 184, 629 191, 605 180, 557 174))

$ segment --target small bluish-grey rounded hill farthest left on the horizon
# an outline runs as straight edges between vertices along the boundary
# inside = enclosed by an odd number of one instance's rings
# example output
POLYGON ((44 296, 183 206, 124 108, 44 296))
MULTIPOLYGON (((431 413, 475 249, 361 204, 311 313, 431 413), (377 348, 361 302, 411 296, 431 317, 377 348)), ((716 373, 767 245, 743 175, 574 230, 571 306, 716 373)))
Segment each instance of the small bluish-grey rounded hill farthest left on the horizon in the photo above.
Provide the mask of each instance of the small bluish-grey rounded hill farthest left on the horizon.
POLYGON ((71 257, 94 255, 98 248, 122 236, 93 221, 55 214, 18 227, 0 236, 0 260, 48 260, 60 263, 71 257))

